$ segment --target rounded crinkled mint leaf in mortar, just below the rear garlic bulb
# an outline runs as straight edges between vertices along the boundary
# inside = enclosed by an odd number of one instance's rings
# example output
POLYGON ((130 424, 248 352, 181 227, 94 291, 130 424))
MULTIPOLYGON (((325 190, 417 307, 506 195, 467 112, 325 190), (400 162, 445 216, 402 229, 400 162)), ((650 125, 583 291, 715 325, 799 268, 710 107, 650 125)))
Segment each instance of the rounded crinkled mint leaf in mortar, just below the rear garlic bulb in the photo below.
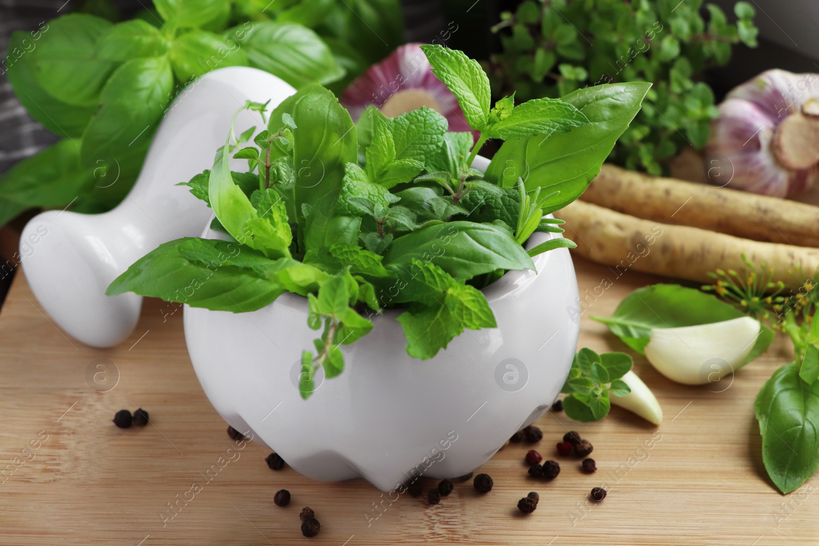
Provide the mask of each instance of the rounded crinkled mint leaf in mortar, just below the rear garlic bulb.
POLYGON ((396 159, 416 160, 421 165, 444 145, 446 118, 426 106, 391 120, 396 159))

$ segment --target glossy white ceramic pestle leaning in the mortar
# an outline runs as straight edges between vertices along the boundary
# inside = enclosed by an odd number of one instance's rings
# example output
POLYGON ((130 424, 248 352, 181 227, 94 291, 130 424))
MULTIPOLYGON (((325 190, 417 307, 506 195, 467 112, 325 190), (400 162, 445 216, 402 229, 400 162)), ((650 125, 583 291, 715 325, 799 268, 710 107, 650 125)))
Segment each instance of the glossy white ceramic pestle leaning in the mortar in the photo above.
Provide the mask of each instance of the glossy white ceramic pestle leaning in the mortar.
MULTIPOLYGON (((201 235, 211 210, 187 186, 210 169, 224 145, 233 114, 246 100, 270 100, 269 111, 295 93, 262 70, 234 66, 205 74, 179 93, 162 120, 137 182, 114 210, 77 214, 48 210, 26 224, 20 256, 34 296, 71 336, 110 347, 133 331, 142 297, 106 296, 108 285, 130 264, 166 241, 201 235)), ((256 125, 258 112, 242 111, 236 134, 256 125)), ((247 162, 242 167, 247 169, 247 162)))

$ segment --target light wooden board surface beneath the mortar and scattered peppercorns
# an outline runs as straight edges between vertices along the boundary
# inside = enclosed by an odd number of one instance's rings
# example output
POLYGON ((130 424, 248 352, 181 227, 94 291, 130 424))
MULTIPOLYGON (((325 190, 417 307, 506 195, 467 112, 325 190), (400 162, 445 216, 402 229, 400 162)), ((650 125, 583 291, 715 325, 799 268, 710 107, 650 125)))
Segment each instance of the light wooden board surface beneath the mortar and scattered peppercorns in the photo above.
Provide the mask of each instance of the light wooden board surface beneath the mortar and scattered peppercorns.
MULTIPOLYGON (((659 279, 575 263, 580 346, 626 350, 588 317, 609 316, 659 279)), ((735 377, 702 387, 672 383, 635 355, 663 406, 661 426, 621 408, 590 424, 547 413, 536 423, 540 442, 510 443, 480 469, 494 482, 489 493, 454 481, 429 505, 437 480, 425 479, 417 498, 396 499, 362 480, 326 484, 287 466, 271 470, 260 444, 239 449, 193 373, 181 309, 145 300, 129 340, 92 349, 50 323, 18 273, 0 312, 0 544, 817 544, 817 481, 776 492, 753 416, 754 396, 789 362, 786 351, 778 339, 735 377), (138 407, 150 413, 147 426, 111 422, 138 407), (594 445, 596 472, 559 456, 568 430, 594 445), (529 449, 558 461, 559 476, 529 476, 529 449), (595 487, 608 490, 600 503, 589 499, 595 487), (274 504, 281 489, 292 495, 285 507, 274 504), (530 491, 540 502, 524 514, 518 502, 530 491), (305 506, 321 522, 312 539, 301 535, 305 506)))

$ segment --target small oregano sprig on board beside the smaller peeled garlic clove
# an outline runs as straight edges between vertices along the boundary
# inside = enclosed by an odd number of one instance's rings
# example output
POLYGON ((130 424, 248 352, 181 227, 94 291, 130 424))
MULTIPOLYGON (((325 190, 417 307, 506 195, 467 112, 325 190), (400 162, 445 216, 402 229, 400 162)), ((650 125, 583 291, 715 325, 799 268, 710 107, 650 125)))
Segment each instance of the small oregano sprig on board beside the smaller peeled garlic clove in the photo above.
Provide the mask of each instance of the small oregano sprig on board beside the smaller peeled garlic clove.
POLYGON ((599 421, 609 414, 612 396, 626 396, 631 389, 621 377, 631 370, 625 353, 597 354, 583 348, 575 355, 563 389, 563 411, 582 422, 599 421))

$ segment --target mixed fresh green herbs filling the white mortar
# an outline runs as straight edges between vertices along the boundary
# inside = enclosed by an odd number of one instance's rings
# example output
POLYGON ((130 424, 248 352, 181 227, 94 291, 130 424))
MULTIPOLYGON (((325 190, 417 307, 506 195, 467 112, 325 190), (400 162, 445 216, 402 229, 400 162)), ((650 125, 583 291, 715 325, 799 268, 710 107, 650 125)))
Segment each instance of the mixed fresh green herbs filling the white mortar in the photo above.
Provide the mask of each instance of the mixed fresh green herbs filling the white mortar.
POLYGON ((520 106, 507 98, 493 107, 476 61, 440 46, 423 51, 480 132, 477 144, 471 133, 447 132, 446 119, 428 108, 390 119, 370 107, 354 125, 333 93, 311 84, 275 108, 250 146, 252 131, 231 132, 213 168, 187 183, 213 209, 211 228, 229 241, 165 243, 107 293, 233 312, 260 309, 286 291, 305 296, 308 326, 322 331, 302 354, 305 398, 316 368, 328 377, 342 372, 340 347, 372 329, 362 313, 405 309, 397 320, 407 353, 419 359, 446 349, 465 328, 495 327, 480 289, 506 271, 534 268, 541 252, 574 246, 563 237, 528 251, 523 243, 536 231, 563 231, 545 215, 581 195, 610 147, 579 154, 583 174, 566 184, 559 169, 507 180, 496 160, 483 174, 471 167, 480 142, 560 138, 557 147, 532 150, 541 163, 586 150, 591 136, 613 144, 649 85, 600 86, 520 106), (247 160, 246 173, 230 171, 231 154, 247 160))

